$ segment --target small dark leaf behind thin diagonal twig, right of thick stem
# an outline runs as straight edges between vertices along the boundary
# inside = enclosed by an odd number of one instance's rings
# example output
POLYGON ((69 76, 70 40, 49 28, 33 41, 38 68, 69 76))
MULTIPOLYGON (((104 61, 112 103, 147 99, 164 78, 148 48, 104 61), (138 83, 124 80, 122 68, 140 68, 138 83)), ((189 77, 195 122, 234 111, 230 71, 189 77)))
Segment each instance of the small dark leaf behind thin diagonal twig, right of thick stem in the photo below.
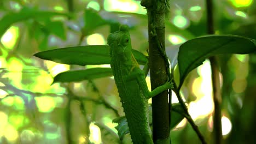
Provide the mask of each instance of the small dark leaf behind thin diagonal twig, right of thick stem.
POLYGON ((181 104, 172 104, 170 129, 173 129, 178 123, 180 123, 185 117, 184 115, 185 111, 182 108, 181 104))

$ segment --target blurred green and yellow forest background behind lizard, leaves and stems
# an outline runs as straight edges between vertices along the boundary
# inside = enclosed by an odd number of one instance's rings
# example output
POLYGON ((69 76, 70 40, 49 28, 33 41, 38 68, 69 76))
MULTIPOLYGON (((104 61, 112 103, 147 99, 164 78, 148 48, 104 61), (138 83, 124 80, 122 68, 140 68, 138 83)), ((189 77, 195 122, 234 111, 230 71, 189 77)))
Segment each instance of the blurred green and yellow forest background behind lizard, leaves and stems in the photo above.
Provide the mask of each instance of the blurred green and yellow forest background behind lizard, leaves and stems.
MULTIPOLYGON (((32 55, 60 47, 104 45, 107 35, 117 31, 120 23, 131 27, 133 49, 146 55, 147 15, 139 2, 0 1, 0 143, 121 143, 112 120, 124 113, 112 77, 51 85, 53 77, 62 71, 95 65, 69 66, 32 55)), ((214 1, 216 33, 256 39, 255 11, 253 0, 214 1)), ((170 1, 166 19, 170 59, 177 57, 179 44, 205 34, 205 1, 170 1)), ((256 55, 220 55, 218 60, 224 143, 255 143, 256 55)), ((182 95, 211 143, 209 65, 205 61, 189 73, 182 95)), ((172 101, 177 103, 175 95, 172 101)), ((171 136, 173 143, 199 143, 185 120, 171 131, 171 136)), ((129 135, 123 143, 131 143, 129 135)))

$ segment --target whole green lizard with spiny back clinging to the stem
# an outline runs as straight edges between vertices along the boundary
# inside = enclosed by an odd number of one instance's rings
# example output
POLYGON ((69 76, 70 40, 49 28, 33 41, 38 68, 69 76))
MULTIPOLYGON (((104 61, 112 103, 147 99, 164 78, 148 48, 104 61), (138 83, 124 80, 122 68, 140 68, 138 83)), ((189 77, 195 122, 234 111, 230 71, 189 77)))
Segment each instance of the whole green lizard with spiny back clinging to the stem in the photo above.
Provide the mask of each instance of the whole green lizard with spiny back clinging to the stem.
POLYGON ((133 56, 129 27, 109 34, 110 65, 133 143, 153 143, 148 121, 148 99, 172 88, 171 81, 149 92, 145 75, 133 56))

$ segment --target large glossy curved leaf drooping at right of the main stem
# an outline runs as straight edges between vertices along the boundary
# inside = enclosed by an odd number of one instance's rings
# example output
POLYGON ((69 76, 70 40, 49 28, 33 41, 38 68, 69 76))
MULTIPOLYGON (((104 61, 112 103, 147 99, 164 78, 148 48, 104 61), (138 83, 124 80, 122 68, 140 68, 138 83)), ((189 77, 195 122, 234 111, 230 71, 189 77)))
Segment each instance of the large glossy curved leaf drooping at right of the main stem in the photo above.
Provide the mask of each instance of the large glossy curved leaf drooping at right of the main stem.
POLYGON ((212 35, 191 39, 179 48, 178 66, 181 77, 179 88, 188 73, 206 58, 228 53, 246 54, 255 52, 255 40, 237 35, 212 35))

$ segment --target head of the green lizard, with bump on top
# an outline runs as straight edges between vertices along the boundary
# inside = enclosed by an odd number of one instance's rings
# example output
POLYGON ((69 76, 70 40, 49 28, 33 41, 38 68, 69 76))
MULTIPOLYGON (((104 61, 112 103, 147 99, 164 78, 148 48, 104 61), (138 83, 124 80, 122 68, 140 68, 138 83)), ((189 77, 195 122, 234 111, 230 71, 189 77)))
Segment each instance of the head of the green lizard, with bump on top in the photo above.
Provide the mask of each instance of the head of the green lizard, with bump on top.
POLYGON ((129 34, 129 27, 121 25, 119 31, 110 33, 108 35, 108 45, 110 46, 110 56, 112 56, 113 49, 117 53, 124 53, 131 51, 131 38, 129 34))

